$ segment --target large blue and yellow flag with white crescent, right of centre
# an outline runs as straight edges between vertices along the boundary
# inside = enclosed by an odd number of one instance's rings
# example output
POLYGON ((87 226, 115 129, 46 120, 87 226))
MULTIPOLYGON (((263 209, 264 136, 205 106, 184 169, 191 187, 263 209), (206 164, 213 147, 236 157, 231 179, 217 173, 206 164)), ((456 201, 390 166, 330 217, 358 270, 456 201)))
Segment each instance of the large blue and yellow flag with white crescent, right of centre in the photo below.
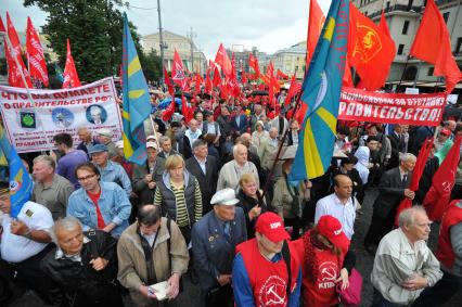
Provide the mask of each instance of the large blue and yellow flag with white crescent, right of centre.
POLYGON ((332 1, 301 86, 308 105, 290 180, 324 175, 332 159, 348 48, 348 1, 332 1))

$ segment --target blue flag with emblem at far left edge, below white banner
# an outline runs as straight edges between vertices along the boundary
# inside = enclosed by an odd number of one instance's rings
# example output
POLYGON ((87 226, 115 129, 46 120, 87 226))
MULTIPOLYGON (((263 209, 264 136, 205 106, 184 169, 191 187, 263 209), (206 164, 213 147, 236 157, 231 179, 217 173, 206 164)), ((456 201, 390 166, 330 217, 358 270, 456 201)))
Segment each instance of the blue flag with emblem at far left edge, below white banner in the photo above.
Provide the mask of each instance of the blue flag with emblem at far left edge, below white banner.
POLYGON ((14 146, 10 144, 3 127, 0 125, 0 149, 7 157, 10 168, 10 216, 16 218, 23 205, 30 200, 33 193, 33 180, 16 153, 14 146))

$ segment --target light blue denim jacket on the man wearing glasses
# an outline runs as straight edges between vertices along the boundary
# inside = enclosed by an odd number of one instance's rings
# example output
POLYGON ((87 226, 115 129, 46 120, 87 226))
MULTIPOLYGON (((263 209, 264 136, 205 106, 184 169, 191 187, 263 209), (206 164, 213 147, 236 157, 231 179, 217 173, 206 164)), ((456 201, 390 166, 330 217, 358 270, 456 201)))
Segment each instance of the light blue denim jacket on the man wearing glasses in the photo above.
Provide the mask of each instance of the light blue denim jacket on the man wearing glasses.
MULTIPOLYGON (((98 201, 104 222, 114 222, 116 228, 111 232, 114 238, 128 227, 128 218, 131 213, 131 204, 124 190, 114 182, 100 181, 101 196, 98 201)), ((82 188, 74 191, 67 204, 67 216, 74 216, 80 220, 84 231, 98 229, 98 217, 94 203, 82 188)))

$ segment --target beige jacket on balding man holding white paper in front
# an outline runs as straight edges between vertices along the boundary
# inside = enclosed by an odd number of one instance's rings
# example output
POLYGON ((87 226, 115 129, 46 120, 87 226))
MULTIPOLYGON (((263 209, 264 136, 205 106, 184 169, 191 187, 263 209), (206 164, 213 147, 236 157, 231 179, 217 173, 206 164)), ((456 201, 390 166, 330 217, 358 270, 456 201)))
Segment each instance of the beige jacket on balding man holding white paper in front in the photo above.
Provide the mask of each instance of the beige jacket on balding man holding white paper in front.
MULTIPOLYGON (((128 287, 131 299, 137 306, 145 306, 150 300, 141 295, 139 287, 146 284, 147 269, 143 247, 137 232, 138 223, 132 223, 120 235, 117 244, 118 274, 121 285, 128 287)), ((184 239, 175 221, 170 225, 171 238, 167 230, 167 219, 162 218, 158 238, 153 250, 153 264, 157 282, 166 281, 172 273, 184 273, 188 270, 189 253, 184 239), (170 238, 170 253, 167 241, 170 238), (168 257, 171 257, 169 268, 168 257)))

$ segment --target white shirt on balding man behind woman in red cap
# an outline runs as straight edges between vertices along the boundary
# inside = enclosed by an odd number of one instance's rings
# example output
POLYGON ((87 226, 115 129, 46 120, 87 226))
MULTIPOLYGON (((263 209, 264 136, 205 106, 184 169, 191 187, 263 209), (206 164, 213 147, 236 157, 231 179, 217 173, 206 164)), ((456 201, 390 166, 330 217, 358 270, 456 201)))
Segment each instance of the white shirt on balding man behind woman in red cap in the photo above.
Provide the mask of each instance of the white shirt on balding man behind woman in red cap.
POLYGON ((345 205, 338 200, 335 193, 319 200, 316 204, 315 223, 318 223, 318 220, 324 215, 331 215, 338 219, 346 236, 351 240, 355 233, 354 226, 356 218, 355 205, 351 197, 348 199, 345 205))

